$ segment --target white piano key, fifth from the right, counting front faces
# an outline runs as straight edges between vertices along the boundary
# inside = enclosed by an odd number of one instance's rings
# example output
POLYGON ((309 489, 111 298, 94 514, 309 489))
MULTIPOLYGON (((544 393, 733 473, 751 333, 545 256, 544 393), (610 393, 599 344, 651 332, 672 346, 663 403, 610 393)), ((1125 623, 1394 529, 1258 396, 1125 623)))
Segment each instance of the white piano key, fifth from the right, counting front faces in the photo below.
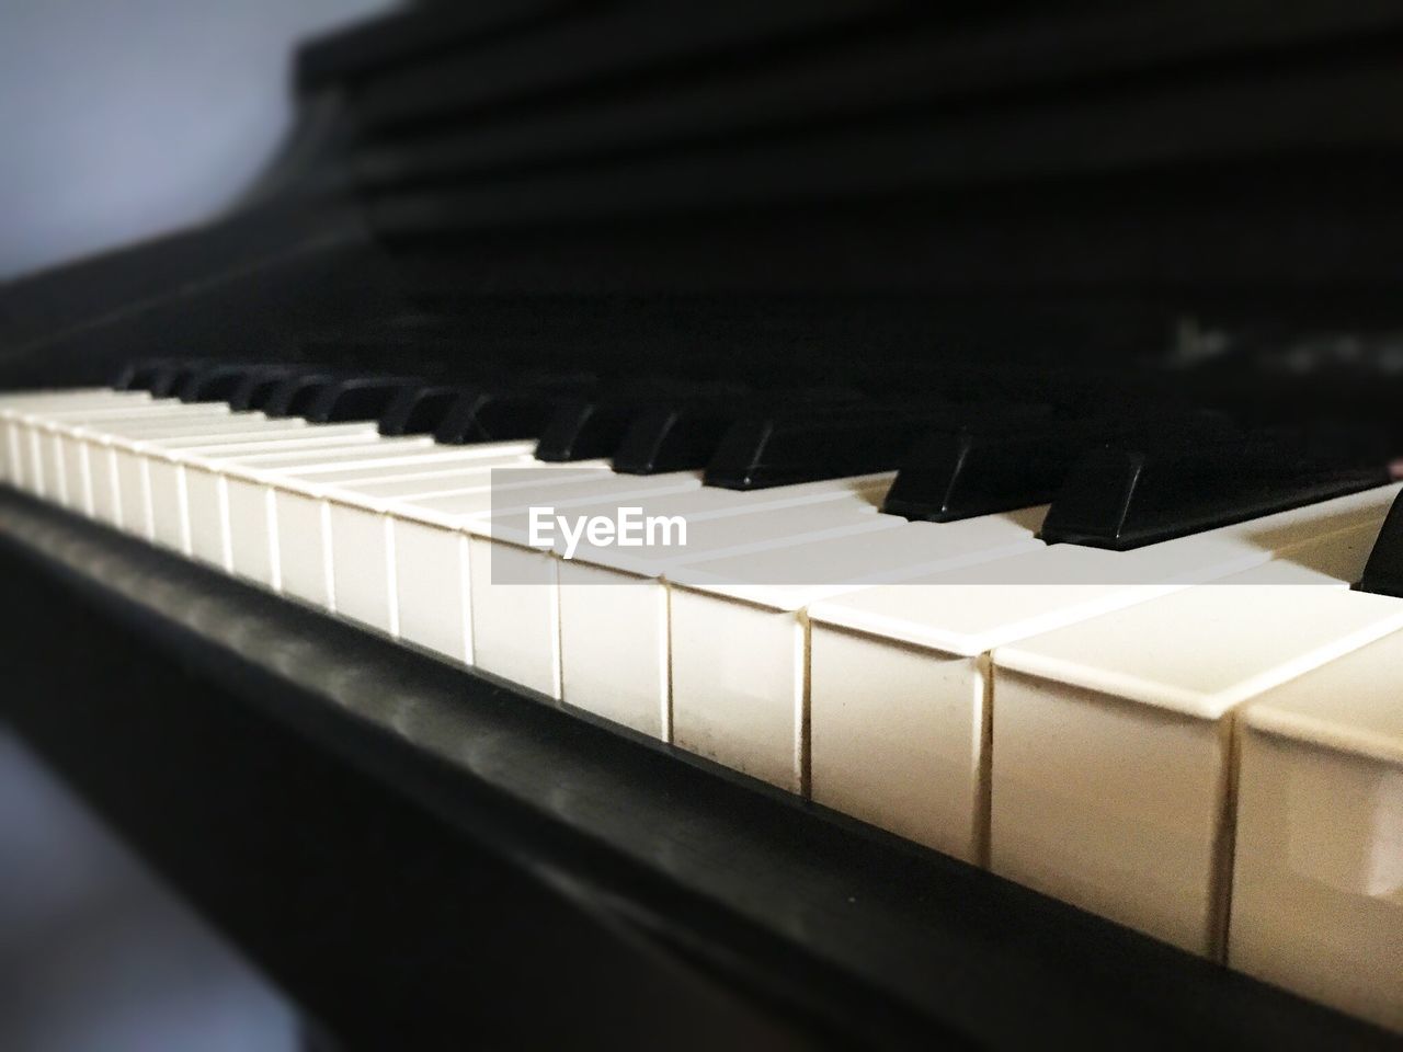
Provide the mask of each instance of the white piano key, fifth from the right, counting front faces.
MULTIPOLYGON (((776 534, 759 518, 794 506, 846 502, 875 511, 891 487, 891 473, 833 478, 801 485, 744 492, 702 487, 641 502, 644 516, 685 522, 685 547, 595 547, 582 541, 558 567, 561 697, 568 704, 669 741, 668 593, 662 575, 669 568, 697 562, 749 546, 773 547, 791 536, 791 519, 776 534), (744 516, 720 529, 711 523, 744 516)), ((581 518, 613 516, 617 504, 578 508, 581 518)), ((899 519, 884 516, 884 525, 899 519)), ((846 525, 846 523, 845 523, 846 525)), ((655 530, 657 534, 657 530, 655 530)), ((661 541, 658 534, 655 540, 661 541)), ((561 557, 557 539, 554 555, 561 557)))

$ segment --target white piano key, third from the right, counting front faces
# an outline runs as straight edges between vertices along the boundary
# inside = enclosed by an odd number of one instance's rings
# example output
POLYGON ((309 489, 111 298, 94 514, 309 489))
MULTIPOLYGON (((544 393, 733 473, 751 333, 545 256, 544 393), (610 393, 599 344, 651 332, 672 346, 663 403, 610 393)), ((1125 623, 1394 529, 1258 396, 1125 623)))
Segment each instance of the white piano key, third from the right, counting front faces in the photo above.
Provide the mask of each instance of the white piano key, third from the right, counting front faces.
POLYGON ((1055 544, 815 602, 814 801, 982 864, 993 647, 1250 569, 1343 529, 1376 530, 1396 492, 1383 487, 1127 553, 1055 544))

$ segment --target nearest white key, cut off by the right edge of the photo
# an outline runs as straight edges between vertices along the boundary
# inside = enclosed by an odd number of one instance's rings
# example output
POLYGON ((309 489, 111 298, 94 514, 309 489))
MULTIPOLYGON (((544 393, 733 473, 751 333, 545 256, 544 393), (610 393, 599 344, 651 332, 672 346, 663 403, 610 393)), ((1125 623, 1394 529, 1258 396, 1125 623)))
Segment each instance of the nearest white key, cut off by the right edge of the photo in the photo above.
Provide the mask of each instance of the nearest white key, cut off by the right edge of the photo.
POLYGON ((1242 715, 1228 964, 1403 1031, 1403 634, 1242 715))

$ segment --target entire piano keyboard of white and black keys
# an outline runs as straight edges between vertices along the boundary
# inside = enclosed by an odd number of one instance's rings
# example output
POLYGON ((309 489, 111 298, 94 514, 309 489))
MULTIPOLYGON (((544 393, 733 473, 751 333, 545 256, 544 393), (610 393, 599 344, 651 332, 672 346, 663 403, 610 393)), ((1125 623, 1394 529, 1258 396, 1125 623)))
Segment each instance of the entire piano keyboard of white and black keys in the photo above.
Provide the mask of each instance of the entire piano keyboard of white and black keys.
POLYGON ((1403 1030, 1403 598, 1352 588, 1397 579, 1386 471, 741 403, 139 365, 0 397, 0 478, 1403 1030), (686 544, 530 536, 624 505, 686 544))

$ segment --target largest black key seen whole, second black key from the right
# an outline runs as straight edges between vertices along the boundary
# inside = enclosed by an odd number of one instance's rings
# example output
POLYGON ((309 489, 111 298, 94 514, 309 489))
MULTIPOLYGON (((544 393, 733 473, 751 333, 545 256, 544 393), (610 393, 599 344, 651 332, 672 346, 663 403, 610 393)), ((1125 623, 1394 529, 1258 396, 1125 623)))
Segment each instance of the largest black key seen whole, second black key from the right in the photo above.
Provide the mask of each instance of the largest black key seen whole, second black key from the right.
POLYGON ((1338 456, 1309 438, 1101 449, 1070 470, 1041 537, 1127 551, 1385 483, 1382 463, 1338 456))

